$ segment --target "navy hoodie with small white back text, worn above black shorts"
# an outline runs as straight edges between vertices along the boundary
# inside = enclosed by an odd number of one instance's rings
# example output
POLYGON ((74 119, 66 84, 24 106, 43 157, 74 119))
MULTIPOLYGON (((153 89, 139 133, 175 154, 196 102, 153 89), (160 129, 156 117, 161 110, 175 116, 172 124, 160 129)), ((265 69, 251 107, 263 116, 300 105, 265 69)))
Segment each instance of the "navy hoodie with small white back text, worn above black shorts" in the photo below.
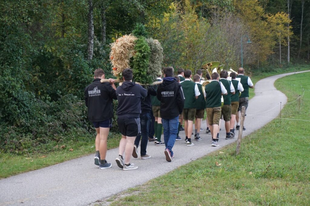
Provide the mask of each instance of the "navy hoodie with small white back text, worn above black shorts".
POLYGON ((119 118, 139 118, 141 113, 141 98, 145 98, 148 91, 135 82, 125 81, 117 87, 118 106, 116 114, 119 118))

